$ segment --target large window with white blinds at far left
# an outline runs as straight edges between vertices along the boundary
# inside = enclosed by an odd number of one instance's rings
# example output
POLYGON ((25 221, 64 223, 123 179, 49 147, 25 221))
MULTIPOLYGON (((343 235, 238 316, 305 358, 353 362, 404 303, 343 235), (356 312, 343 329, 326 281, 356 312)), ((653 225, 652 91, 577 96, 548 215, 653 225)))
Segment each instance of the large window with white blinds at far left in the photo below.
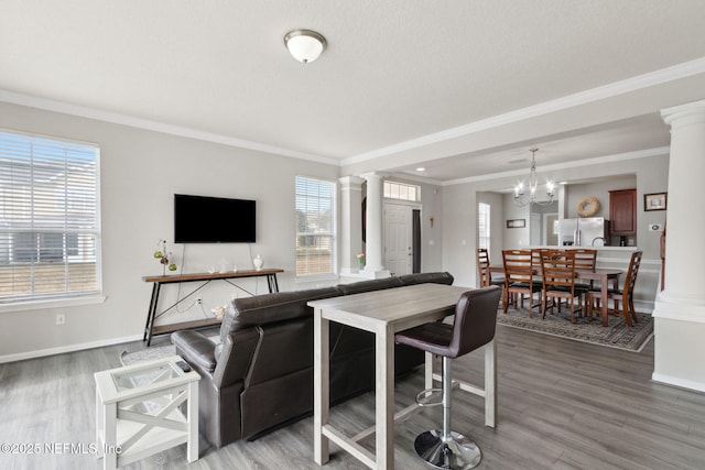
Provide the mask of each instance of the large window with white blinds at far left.
POLYGON ((0 130, 0 304, 98 293, 98 154, 0 130))

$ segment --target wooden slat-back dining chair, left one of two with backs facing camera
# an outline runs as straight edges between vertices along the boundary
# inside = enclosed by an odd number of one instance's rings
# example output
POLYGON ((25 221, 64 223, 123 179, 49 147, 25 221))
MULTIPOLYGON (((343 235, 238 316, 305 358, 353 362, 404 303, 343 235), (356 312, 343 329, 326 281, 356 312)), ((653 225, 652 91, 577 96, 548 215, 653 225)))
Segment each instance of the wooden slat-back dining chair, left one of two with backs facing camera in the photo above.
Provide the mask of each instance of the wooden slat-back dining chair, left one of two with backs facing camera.
POLYGON ((502 263, 505 265, 505 296, 502 307, 505 313, 509 308, 509 297, 514 299, 514 306, 524 307, 524 295, 529 296, 529 317, 534 306, 541 305, 542 285, 533 280, 538 266, 534 264, 534 255, 531 250, 502 250, 502 263), (539 294, 539 302, 533 303, 533 295, 539 294))

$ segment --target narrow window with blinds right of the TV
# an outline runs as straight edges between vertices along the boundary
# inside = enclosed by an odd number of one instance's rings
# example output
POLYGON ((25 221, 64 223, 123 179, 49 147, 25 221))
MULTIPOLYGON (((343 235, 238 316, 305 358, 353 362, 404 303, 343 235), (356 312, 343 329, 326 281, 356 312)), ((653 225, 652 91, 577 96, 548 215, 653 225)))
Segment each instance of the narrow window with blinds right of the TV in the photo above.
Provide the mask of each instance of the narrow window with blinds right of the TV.
POLYGON ((336 185, 296 176, 296 277, 335 273, 336 185))

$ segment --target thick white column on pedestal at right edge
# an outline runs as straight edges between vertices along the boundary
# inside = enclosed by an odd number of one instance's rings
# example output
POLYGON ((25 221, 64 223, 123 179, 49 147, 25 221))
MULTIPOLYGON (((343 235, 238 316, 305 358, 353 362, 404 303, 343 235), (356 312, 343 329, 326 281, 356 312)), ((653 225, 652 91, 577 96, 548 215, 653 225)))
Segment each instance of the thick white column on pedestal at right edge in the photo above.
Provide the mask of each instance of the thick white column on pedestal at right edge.
POLYGON ((705 392, 705 100, 661 111, 671 127, 665 289, 654 304, 654 381, 705 392))

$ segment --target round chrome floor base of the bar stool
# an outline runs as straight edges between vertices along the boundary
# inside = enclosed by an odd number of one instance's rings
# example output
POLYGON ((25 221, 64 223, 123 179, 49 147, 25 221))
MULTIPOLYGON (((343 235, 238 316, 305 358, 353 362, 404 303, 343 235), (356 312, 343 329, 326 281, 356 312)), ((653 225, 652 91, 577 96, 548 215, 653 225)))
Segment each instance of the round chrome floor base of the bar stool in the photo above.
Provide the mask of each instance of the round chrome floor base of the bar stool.
POLYGON ((419 457, 437 469, 467 470, 477 467, 482 452, 477 444, 458 433, 443 440, 443 431, 427 430, 414 441, 419 457))

